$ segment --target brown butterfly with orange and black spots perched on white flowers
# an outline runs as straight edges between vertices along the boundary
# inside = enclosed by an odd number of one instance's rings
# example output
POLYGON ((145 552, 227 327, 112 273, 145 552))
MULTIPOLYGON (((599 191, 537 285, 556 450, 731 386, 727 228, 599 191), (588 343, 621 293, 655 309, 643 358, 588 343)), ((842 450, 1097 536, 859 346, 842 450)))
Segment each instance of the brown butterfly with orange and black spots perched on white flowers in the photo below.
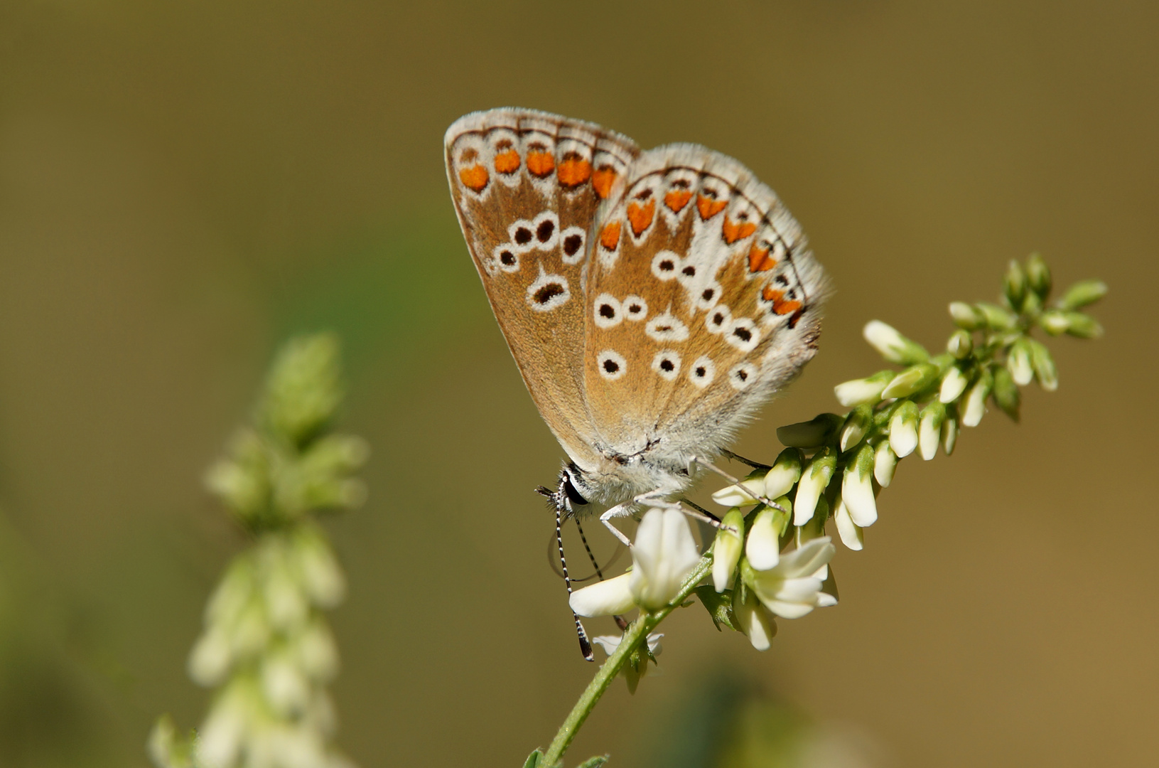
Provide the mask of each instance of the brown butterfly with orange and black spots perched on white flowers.
POLYGON ((598 503, 626 541, 612 517, 679 495, 814 356, 824 271, 772 189, 695 144, 643 151, 508 108, 460 117, 445 150, 491 310, 568 456, 556 527, 598 503))

